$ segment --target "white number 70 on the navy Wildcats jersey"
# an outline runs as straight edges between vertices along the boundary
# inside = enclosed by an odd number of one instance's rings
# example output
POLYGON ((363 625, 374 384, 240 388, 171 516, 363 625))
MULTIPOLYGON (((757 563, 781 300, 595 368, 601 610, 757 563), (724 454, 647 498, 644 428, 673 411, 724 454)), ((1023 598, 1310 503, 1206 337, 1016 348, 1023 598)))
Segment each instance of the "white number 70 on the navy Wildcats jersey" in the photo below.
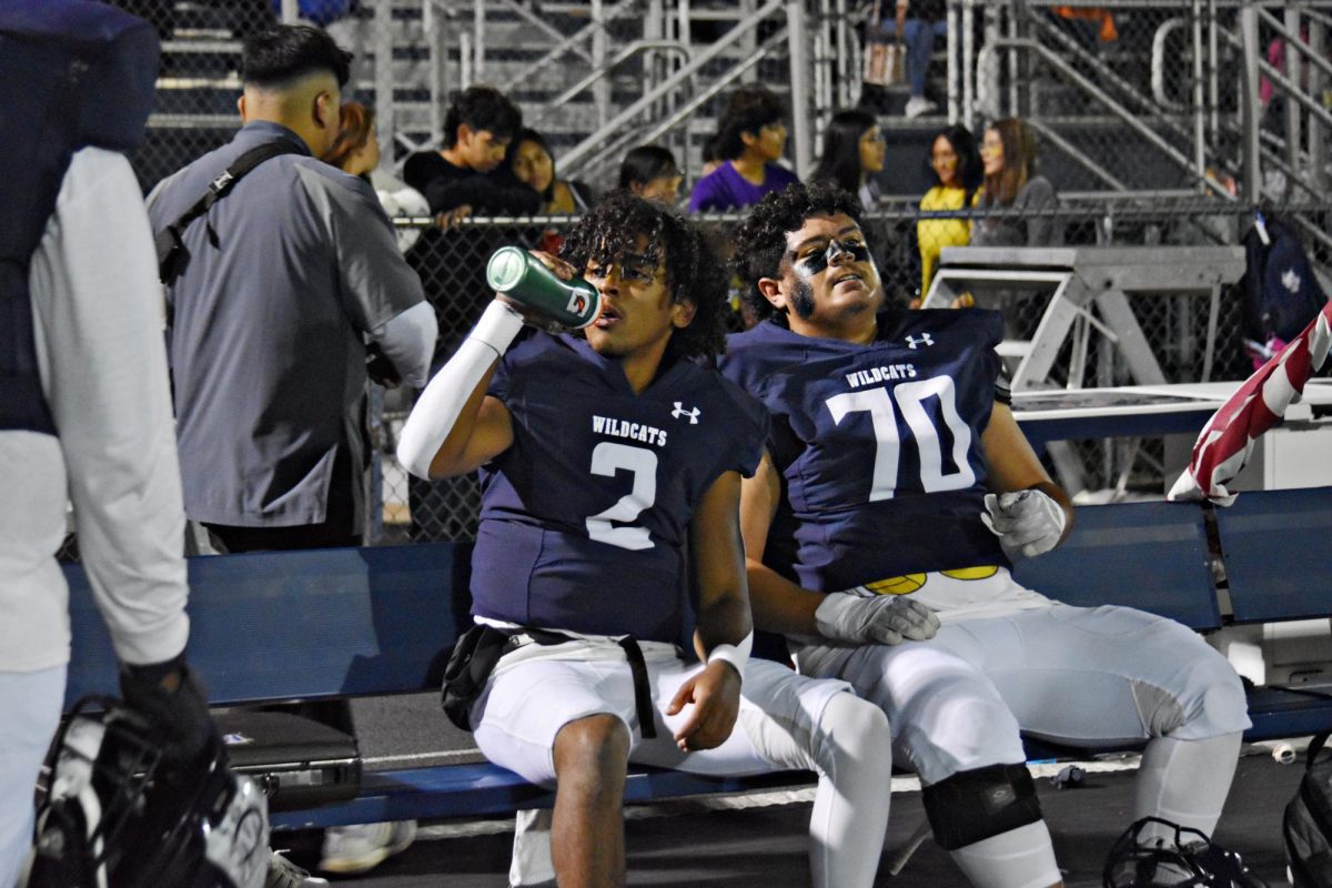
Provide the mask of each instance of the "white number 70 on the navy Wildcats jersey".
POLYGON ((971 449, 971 427, 958 414, 958 397, 952 377, 932 377, 899 383, 890 394, 886 387, 844 391, 827 399, 832 422, 842 425, 848 413, 866 411, 874 426, 874 473, 870 478, 870 502, 892 499, 898 489, 902 461, 902 439, 898 434, 896 413, 911 431, 920 453, 920 487, 924 493, 962 490, 976 481, 976 473, 967 459, 971 449), (952 463, 956 471, 943 471, 943 445, 939 430, 924 409, 928 398, 939 399, 939 415, 952 435, 952 463), (894 401, 896 407, 894 407, 894 401))

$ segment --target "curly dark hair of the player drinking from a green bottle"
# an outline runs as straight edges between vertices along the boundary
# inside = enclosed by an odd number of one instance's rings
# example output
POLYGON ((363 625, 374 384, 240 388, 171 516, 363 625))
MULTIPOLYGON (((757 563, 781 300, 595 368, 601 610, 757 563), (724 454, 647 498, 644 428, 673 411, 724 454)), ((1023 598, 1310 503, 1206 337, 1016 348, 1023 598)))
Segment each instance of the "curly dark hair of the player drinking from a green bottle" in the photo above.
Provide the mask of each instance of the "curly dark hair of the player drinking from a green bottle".
POLYGON ((675 209, 614 192, 569 230, 561 258, 577 269, 589 262, 614 262, 638 252, 639 234, 647 240, 646 258, 666 264, 671 301, 694 304, 694 320, 671 334, 666 361, 713 358, 725 351, 726 265, 707 245, 702 229, 675 209))

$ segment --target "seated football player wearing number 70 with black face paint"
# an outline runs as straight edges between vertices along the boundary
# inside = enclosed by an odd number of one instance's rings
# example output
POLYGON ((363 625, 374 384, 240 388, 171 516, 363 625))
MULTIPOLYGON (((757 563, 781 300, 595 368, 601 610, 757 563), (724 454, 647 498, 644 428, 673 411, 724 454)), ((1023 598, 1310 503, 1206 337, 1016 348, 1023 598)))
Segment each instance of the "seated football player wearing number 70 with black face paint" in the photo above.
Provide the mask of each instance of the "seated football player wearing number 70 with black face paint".
POLYGON ((1060 884, 1020 731, 1146 742, 1135 820, 1211 835, 1248 726, 1225 659, 1171 620, 1008 574, 1059 545, 1072 507, 1007 403, 1000 316, 883 310, 859 204, 835 189, 770 194, 735 242, 762 321, 722 373, 773 414, 742 485, 755 626, 884 710, 974 885, 1060 884))

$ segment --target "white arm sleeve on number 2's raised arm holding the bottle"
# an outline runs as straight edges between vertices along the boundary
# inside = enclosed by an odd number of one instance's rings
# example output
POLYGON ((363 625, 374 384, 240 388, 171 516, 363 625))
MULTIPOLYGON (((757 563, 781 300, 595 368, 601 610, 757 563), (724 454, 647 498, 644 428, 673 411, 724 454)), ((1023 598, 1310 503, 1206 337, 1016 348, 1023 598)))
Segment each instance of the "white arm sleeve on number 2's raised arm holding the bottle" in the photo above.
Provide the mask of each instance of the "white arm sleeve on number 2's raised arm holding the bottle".
POLYGON ((430 462, 458 421, 462 405, 521 329, 522 316, 507 305, 492 302, 486 308, 477 326, 430 379, 402 426, 398 462, 404 469, 417 478, 430 477, 430 462))

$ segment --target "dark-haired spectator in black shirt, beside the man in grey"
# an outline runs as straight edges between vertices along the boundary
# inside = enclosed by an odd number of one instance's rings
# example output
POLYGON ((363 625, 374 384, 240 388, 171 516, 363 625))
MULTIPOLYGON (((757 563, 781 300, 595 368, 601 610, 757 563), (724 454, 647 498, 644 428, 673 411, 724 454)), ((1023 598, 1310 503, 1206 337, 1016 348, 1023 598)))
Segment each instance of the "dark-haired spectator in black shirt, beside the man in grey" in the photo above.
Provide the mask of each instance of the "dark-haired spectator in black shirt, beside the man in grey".
POLYGON ((466 206, 482 216, 530 216, 541 197, 505 165, 509 142, 522 128, 522 112, 490 87, 458 93, 444 117, 444 148, 417 152, 402 166, 406 184, 446 213, 466 206))

